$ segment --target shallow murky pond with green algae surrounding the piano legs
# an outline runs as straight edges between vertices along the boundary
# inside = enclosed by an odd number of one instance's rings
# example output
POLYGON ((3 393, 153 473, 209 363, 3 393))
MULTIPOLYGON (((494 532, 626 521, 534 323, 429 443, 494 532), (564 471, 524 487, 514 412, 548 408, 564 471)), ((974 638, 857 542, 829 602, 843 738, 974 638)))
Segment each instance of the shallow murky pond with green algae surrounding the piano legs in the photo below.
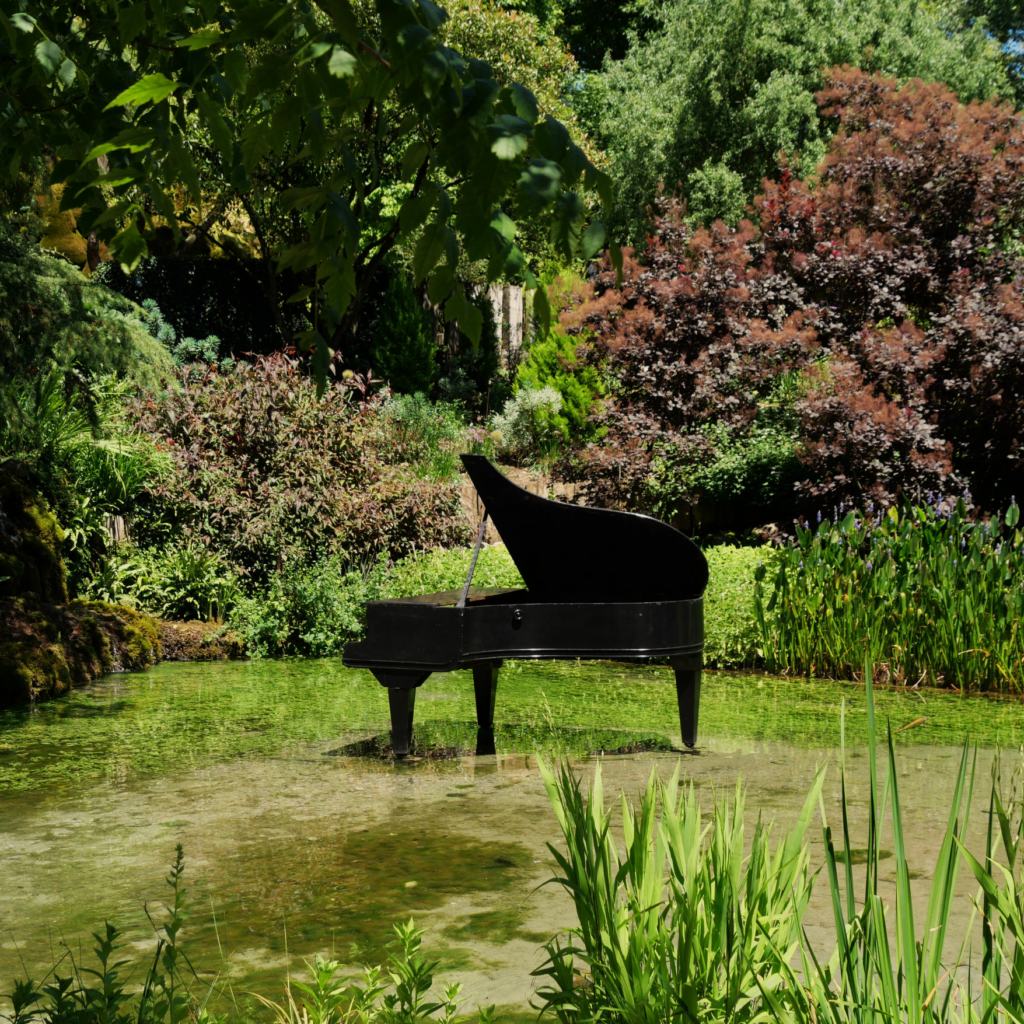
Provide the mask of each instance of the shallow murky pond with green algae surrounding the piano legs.
MULTIPOLYGON (((835 763, 844 699, 858 827, 857 686, 706 674, 684 777, 708 791, 707 808, 712 790, 741 775, 749 813, 788 823, 816 766, 835 763)), ((991 751, 1024 737, 1024 705, 929 691, 882 691, 877 702, 901 730, 910 862, 927 887, 958 744, 970 733, 982 749, 983 797, 991 751)), ((463 981, 470 1006, 525 1012, 541 944, 573 920, 557 887, 539 888, 558 834, 538 753, 567 757, 584 775, 601 762, 606 792, 635 793, 652 769, 668 775, 679 762, 676 716, 666 668, 512 663, 499 683, 498 753, 477 758, 471 676, 437 675, 417 701, 418 737, 454 756, 393 764, 357 756, 386 733, 386 692, 331 659, 163 665, 2 712, 2 988, 23 965, 40 977, 68 949, 91 948, 104 919, 137 952, 148 948, 145 911, 159 918, 181 843, 186 948, 240 1004, 252 991, 280 997, 286 968, 301 970, 314 951, 379 961, 391 926, 414 916, 439 976, 463 981)), ((833 771, 828 813, 838 790, 833 771)), ((974 823, 980 834, 977 810, 974 823)), ((971 891, 967 879, 962 888, 971 891)), ((826 944, 824 886, 814 899, 809 931, 826 944)))

